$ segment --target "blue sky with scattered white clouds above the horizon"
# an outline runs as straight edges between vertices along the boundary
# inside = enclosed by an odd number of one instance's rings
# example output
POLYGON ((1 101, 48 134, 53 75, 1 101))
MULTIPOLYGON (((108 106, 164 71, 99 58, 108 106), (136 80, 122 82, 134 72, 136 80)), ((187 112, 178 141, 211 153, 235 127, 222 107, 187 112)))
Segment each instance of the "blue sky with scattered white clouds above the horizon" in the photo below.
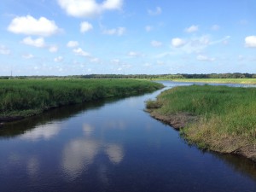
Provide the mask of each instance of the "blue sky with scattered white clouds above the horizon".
POLYGON ((3 0, 0 75, 256 73, 255 0, 3 0))

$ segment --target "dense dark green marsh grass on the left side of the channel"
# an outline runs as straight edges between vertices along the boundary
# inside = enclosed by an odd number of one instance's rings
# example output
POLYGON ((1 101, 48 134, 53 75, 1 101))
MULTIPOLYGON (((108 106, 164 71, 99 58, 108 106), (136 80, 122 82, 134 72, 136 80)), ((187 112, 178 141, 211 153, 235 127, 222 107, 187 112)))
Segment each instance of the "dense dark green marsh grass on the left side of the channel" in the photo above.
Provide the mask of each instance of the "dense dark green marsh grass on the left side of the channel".
POLYGON ((49 108, 160 89, 140 80, 7 79, 0 80, 0 121, 31 116, 49 108))

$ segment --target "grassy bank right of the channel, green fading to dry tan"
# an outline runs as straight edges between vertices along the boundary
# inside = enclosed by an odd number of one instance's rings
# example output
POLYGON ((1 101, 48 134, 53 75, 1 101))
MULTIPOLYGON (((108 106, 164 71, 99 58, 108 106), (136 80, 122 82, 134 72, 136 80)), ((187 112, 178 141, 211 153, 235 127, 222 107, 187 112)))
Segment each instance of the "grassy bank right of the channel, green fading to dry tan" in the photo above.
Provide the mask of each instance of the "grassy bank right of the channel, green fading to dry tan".
POLYGON ((192 85, 166 90, 149 101, 156 119, 176 128, 189 143, 256 160, 256 89, 192 85))

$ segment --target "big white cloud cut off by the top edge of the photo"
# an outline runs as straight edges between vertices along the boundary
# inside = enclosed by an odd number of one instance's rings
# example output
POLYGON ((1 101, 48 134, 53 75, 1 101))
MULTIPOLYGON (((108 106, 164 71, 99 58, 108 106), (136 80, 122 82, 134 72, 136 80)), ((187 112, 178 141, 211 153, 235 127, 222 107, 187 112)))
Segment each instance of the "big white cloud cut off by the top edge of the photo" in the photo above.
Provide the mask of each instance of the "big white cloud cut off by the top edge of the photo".
POLYGON ((91 17, 106 10, 121 9, 123 0, 105 0, 102 3, 97 3, 96 0, 58 0, 58 3, 67 15, 91 17))

